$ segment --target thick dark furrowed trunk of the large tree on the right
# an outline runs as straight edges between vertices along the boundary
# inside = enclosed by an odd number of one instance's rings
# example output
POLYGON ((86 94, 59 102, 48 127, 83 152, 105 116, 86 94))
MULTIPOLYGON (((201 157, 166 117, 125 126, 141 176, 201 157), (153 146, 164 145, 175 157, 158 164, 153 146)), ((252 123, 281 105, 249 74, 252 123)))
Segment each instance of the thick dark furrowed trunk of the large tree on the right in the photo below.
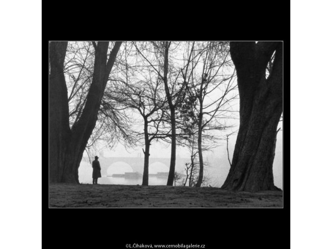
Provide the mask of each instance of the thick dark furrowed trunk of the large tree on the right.
POLYGON ((237 72, 240 127, 222 189, 277 190, 272 166, 282 112, 282 43, 231 42, 230 55, 237 72), (274 51, 272 73, 266 79, 266 66, 274 51))

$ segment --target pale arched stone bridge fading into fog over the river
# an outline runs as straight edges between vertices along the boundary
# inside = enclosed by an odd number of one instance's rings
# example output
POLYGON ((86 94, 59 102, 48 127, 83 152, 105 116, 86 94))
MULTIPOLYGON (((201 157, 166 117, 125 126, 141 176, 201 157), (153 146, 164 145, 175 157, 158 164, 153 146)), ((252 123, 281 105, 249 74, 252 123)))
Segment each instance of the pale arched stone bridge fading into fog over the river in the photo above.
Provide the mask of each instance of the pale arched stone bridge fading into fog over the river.
MULTIPOLYGON (((170 160, 171 160, 170 158, 153 158, 153 157, 151 157, 151 158, 149 158, 149 165, 152 165, 153 163, 162 163, 169 168, 170 160)), ((86 157, 84 157, 82 159, 82 161, 89 163, 89 159, 86 157)), ((117 162, 127 163, 128 165, 130 165, 133 172, 139 172, 139 173, 143 174, 144 157, 102 157, 102 156, 100 156, 98 161, 101 164, 102 175, 107 175, 108 167, 117 162)), ((187 162, 188 162, 188 159, 177 157, 176 165, 175 165, 176 169, 178 168, 178 169, 182 170, 185 166, 185 163, 187 163, 187 162)))

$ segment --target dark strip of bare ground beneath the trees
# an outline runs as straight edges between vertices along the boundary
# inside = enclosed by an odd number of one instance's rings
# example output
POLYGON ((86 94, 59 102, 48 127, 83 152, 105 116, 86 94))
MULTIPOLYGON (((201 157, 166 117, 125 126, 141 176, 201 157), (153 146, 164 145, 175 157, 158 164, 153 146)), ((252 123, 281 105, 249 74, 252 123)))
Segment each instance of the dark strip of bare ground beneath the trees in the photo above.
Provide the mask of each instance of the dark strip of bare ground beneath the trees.
POLYGON ((50 185, 50 207, 282 207, 281 191, 136 185, 50 185))

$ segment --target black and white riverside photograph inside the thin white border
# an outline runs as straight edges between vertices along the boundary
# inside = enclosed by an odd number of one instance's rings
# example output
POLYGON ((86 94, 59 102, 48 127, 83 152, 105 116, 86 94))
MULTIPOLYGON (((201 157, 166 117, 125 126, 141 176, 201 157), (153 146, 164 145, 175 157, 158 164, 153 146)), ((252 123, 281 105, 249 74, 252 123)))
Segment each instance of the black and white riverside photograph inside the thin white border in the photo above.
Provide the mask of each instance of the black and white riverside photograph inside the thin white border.
POLYGON ((282 41, 49 41, 49 207, 282 208, 282 41))

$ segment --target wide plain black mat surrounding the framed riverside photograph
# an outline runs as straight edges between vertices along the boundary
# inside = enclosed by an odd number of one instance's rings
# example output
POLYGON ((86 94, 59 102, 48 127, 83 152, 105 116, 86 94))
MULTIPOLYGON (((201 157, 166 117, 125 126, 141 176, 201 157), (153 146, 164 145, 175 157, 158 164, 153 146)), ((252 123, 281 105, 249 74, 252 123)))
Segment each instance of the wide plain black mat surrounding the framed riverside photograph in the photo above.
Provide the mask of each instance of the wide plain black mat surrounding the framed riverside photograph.
MULTIPOLYGON (((91 6, 90 6, 91 4, 91 6)), ((101 4, 101 3, 99 3, 101 4)), ((126 244, 204 244, 205 248, 288 247, 289 190, 289 7, 237 6, 197 9, 128 6, 78 9, 60 3, 43 12, 43 244, 52 248, 126 248, 126 244), (137 8, 136 8, 137 7, 137 8), (143 7, 143 10, 142 10, 143 7), (165 10, 162 12, 161 10, 165 10), (204 11, 205 10, 205 11, 204 11), (256 10, 256 11, 255 11, 256 10), (244 12, 245 11, 245 12, 244 12), (91 13, 92 12, 92 13, 91 13), (117 15, 114 14, 117 12, 117 15), (205 12, 205 13, 203 13, 205 12), (244 14, 242 13, 244 12, 244 14), (130 17, 130 18, 129 18, 130 17), (286 19, 287 20, 281 20, 286 19), (174 20, 172 20, 174 19, 174 20), (284 41, 283 208, 49 208, 49 40, 282 40, 284 41)), ((171 3, 165 3, 171 6, 171 3)), ((241 5, 241 6, 239 6, 241 5)))

